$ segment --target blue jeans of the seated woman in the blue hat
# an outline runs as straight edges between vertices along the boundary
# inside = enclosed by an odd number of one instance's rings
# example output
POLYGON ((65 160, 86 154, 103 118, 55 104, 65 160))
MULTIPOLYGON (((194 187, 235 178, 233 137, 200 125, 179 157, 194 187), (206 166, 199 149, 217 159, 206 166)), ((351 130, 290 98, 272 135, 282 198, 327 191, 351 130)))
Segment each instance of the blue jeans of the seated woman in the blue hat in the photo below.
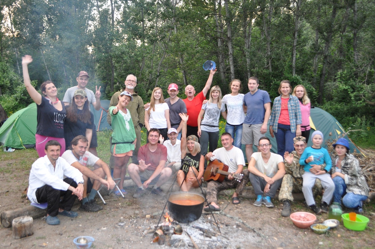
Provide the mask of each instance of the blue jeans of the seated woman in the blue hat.
POLYGON ((333 192, 333 202, 344 204, 348 208, 356 208, 362 206, 361 202, 367 199, 367 196, 362 194, 354 194, 353 192, 347 193, 347 185, 345 184, 344 179, 340 176, 335 176, 333 178, 333 183, 335 184, 335 191, 333 192))

